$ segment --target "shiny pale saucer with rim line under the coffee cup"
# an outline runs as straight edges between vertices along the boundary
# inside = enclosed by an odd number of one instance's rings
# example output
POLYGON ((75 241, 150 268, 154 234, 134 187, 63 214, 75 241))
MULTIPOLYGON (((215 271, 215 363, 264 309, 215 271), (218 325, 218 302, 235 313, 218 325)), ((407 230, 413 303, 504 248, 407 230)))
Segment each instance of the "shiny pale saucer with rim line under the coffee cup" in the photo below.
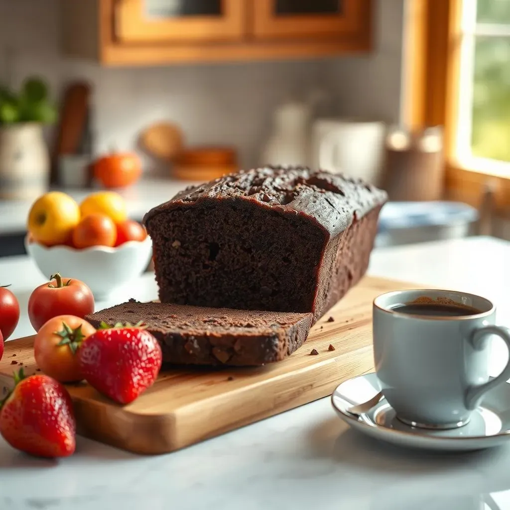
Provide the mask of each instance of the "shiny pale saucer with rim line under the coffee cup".
POLYGON ((379 379, 375 373, 360 375, 342 382, 331 395, 331 403, 338 416, 351 427, 399 446, 448 451, 479 450, 510 440, 508 383, 488 392, 469 423, 453 430, 428 430, 404 425, 385 399, 361 417, 347 412, 352 405, 370 400, 379 390, 379 379))

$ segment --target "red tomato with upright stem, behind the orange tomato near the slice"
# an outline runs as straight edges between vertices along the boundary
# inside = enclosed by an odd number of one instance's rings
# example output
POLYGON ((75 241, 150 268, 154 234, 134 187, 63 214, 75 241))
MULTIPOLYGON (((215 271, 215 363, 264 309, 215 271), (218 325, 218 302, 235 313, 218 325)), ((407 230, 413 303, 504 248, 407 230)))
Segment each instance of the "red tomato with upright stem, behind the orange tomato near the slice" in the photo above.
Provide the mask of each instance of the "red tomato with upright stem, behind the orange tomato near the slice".
POLYGON ((76 315, 83 319, 93 312, 92 291, 80 280, 62 278, 59 273, 37 287, 29 299, 29 319, 36 331, 57 315, 76 315))

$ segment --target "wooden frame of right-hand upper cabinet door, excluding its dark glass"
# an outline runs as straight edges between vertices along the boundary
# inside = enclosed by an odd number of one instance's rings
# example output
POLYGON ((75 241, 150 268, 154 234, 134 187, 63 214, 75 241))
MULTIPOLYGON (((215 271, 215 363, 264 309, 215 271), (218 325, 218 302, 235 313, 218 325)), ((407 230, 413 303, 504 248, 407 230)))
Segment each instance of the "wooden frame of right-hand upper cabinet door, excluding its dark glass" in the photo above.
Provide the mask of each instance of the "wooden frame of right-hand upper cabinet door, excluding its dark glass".
POLYGON ((369 22, 368 0, 338 0, 340 14, 273 14, 275 0, 254 0, 252 6, 253 35, 258 39, 289 37, 329 37, 363 32, 369 22))

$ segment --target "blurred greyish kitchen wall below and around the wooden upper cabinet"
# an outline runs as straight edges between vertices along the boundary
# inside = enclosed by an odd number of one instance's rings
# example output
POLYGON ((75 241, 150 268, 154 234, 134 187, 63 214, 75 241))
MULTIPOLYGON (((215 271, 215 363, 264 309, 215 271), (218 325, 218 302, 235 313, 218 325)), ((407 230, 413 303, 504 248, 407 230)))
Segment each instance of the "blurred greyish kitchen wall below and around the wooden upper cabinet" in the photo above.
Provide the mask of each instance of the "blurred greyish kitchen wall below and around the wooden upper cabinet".
MULTIPOLYGON (((84 2, 92 0, 83 0, 84 2)), ((64 59, 58 50, 58 0, 0 0, 0 78, 4 50, 14 49, 13 83, 41 74, 55 93, 62 83, 93 86, 94 150, 136 147, 140 129, 176 122, 190 144, 233 144, 241 164, 257 163, 275 106, 316 86, 334 93, 337 111, 394 122, 400 114, 405 0, 378 0, 375 51, 308 62, 101 68, 64 59)))

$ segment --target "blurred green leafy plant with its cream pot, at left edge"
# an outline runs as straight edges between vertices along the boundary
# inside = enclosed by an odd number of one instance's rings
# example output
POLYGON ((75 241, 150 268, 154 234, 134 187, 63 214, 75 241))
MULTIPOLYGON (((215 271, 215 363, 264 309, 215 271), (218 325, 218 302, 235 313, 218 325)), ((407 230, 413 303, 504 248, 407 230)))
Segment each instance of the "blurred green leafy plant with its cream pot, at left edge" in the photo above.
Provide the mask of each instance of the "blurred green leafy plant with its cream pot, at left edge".
POLYGON ((46 83, 35 77, 18 91, 0 86, 0 198, 34 198, 49 180, 49 154, 42 126, 57 110, 46 83))

